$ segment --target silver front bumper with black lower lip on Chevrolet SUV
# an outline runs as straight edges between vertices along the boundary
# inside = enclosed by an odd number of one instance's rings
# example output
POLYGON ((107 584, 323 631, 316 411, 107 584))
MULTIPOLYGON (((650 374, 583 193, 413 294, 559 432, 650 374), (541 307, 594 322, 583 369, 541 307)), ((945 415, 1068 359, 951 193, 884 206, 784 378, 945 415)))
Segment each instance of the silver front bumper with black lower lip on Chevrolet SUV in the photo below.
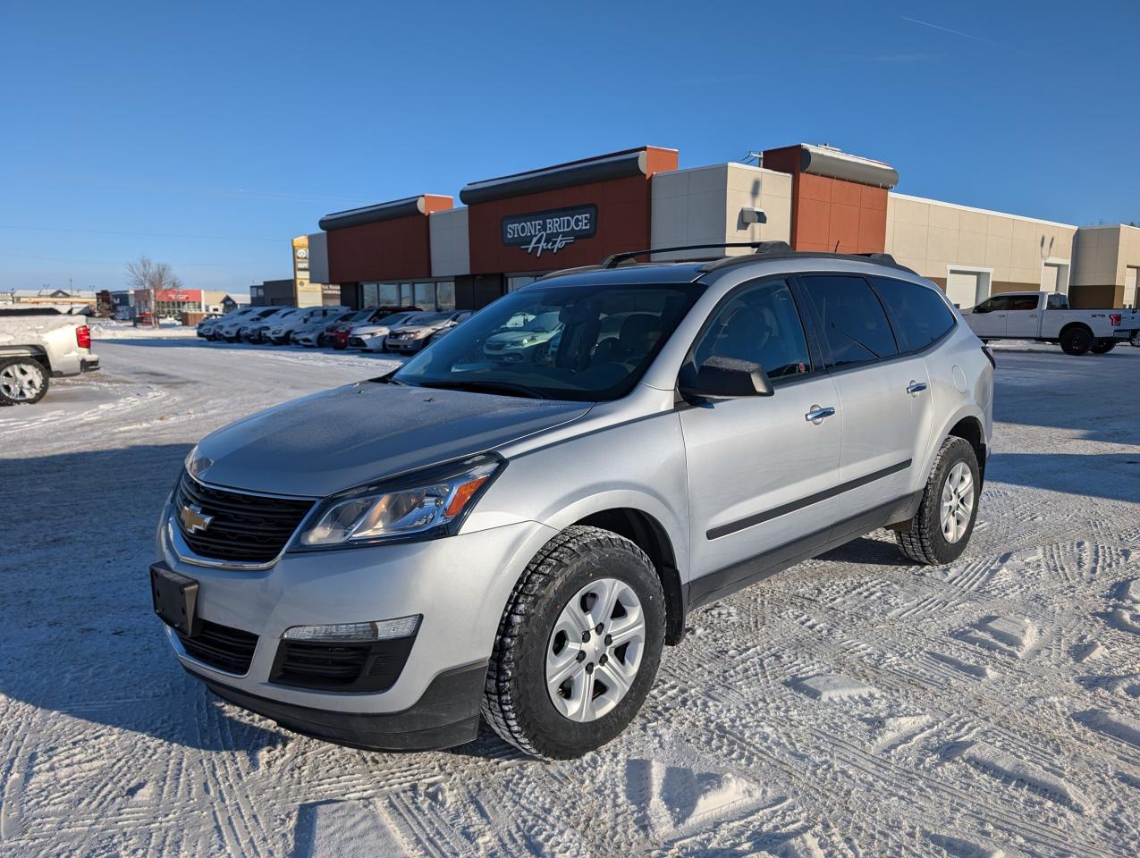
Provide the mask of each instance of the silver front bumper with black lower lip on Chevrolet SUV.
MULTIPOLYGON (((438 727, 441 734, 408 737, 412 744, 399 745, 361 738, 366 734, 400 733, 402 728, 392 725, 404 721, 385 720, 388 717, 402 713, 410 722, 410 712, 421 712, 426 705, 424 700, 437 698, 433 695, 438 689, 432 689, 442 681, 439 677, 459 669, 473 670, 475 663, 486 665, 514 582, 555 533, 537 522, 516 522, 423 542, 285 554, 268 570, 238 571, 181 559, 165 522, 164 515, 157 557, 173 571, 198 581, 197 615, 256 636, 249 670, 237 676, 194 659, 178 635, 163 627, 182 667, 221 696, 276 718, 284 726, 373 747, 415 747, 415 743, 440 742, 440 736, 451 735, 449 730, 457 732, 455 735, 467 730, 482 693, 481 683, 473 680, 459 684, 461 688, 470 685, 473 689, 463 701, 456 700, 454 688, 447 695, 447 711, 454 719, 432 716, 435 721, 423 725, 425 729, 438 727), (402 670, 386 691, 347 693, 271 681, 282 636, 293 626, 410 614, 423 619, 402 670), (384 718, 370 720, 380 716, 384 718)), ((434 703, 430 710, 442 711, 434 703)))

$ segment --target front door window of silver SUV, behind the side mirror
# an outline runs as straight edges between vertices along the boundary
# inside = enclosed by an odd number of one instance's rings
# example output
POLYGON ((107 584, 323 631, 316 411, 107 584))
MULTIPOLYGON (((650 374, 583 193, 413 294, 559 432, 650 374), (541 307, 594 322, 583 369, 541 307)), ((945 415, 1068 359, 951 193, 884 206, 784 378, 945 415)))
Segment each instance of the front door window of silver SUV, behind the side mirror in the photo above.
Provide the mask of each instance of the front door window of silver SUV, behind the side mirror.
POLYGON ((693 357, 698 366, 711 357, 750 360, 772 381, 811 371, 804 325, 788 284, 762 283, 733 295, 701 335, 693 357))

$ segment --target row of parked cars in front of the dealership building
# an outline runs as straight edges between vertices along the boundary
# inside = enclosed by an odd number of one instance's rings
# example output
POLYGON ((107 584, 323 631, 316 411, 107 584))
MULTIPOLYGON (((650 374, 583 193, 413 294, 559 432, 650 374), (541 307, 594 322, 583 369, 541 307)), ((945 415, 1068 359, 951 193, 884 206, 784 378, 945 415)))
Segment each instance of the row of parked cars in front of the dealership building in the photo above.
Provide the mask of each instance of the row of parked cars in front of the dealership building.
POLYGON ((470 310, 433 312, 418 307, 246 307, 204 319, 197 334, 229 343, 413 353, 470 316, 470 310))

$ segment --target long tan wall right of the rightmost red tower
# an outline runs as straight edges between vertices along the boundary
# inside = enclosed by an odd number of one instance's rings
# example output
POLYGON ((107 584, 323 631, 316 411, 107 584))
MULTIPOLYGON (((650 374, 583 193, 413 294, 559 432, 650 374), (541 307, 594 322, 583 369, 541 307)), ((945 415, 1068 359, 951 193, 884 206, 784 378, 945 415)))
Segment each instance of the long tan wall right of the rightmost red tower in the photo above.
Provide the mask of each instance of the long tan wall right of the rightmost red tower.
POLYGON ((991 294, 1041 287, 1042 267, 1069 264, 1076 227, 890 194, 887 253, 945 288, 952 265, 993 269, 991 294))

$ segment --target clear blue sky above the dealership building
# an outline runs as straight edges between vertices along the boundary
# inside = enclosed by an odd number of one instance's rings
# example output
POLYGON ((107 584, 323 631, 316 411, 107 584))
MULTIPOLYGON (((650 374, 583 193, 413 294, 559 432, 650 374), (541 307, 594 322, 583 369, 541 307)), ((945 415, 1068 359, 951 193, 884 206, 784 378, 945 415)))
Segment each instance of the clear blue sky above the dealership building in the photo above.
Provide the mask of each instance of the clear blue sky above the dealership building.
POLYGON ((642 144, 1140 220, 1140 2, 56 3, 0 13, 0 289, 291 275, 320 215, 642 144))

